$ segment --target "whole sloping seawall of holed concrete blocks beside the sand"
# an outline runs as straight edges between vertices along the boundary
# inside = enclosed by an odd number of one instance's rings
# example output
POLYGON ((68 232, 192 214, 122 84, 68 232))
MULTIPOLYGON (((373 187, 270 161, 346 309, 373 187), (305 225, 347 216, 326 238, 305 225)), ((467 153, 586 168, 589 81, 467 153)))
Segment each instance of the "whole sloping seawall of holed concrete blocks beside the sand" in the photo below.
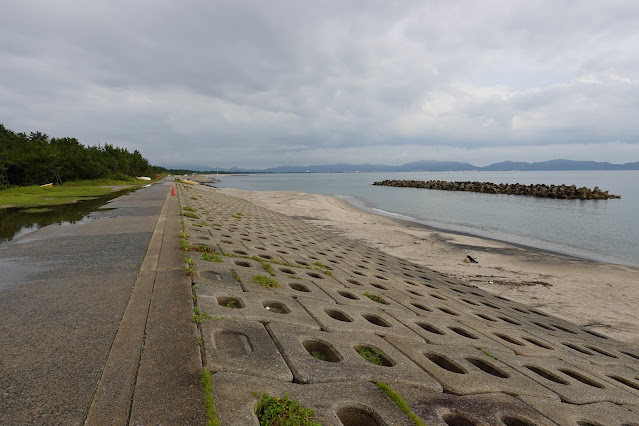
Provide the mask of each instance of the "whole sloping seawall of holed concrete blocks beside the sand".
POLYGON ((636 346, 213 188, 179 196, 224 425, 258 424, 263 391, 325 425, 412 424, 378 380, 429 425, 639 422, 636 346))

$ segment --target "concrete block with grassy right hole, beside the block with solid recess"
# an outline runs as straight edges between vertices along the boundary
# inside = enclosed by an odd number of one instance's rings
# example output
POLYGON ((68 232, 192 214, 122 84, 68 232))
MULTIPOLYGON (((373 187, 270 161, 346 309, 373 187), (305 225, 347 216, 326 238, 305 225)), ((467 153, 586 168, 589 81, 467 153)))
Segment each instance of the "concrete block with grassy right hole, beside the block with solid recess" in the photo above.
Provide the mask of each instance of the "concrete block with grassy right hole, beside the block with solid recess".
POLYGON ((374 334, 301 330, 284 323, 267 327, 297 383, 383 380, 416 384, 433 391, 442 389, 401 352, 374 334), (363 348, 377 351, 382 365, 364 359, 358 353, 363 348))

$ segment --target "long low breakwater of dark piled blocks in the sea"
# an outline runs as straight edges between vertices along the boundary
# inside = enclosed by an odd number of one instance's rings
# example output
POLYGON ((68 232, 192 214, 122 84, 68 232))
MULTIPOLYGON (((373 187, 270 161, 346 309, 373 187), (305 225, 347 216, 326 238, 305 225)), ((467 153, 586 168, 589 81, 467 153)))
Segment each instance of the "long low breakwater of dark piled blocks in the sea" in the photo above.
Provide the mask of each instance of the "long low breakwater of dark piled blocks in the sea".
POLYGON ((378 186, 393 186, 398 188, 438 189, 442 191, 481 192, 485 194, 524 195, 528 197, 557 198, 563 200, 607 200, 621 198, 621 195, 602 191, 598 186, 593 189, 576 185, 522 185, 519 183, 491 183, 491 182, 450 182, 443 180, 383 180, 373 182, 378 186))

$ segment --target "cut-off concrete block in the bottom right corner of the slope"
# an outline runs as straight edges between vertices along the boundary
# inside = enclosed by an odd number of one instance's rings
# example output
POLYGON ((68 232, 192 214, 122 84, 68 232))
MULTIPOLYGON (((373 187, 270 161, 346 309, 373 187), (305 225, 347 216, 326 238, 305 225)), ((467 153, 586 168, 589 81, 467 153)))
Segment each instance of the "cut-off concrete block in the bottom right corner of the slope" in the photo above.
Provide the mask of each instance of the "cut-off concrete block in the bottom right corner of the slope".
POLYGON ((518 398, 559 425, 639 424, 639 415, 610 402, 573 405, 533 396, 518 398))

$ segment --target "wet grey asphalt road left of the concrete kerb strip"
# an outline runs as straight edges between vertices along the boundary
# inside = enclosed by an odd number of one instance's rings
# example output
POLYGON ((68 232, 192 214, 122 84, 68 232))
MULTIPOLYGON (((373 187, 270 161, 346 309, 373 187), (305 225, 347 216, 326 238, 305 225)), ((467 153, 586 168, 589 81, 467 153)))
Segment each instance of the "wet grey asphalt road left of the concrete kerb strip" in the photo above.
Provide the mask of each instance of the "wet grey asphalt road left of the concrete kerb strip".
POLYGON ((171 183, 0 245, 0 424, 81 424, 171 183))

